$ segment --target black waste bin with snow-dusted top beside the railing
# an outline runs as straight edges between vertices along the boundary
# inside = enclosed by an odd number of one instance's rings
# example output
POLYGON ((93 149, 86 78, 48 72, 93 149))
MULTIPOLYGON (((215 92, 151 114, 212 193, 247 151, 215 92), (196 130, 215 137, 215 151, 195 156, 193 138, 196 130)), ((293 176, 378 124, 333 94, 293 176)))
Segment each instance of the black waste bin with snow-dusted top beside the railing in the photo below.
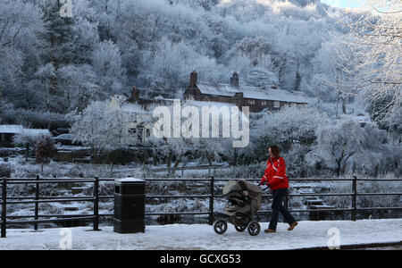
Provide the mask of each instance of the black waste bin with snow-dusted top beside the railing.
POLYGON ((114 180, 114 231, 145 232, 145 180, 114 180))

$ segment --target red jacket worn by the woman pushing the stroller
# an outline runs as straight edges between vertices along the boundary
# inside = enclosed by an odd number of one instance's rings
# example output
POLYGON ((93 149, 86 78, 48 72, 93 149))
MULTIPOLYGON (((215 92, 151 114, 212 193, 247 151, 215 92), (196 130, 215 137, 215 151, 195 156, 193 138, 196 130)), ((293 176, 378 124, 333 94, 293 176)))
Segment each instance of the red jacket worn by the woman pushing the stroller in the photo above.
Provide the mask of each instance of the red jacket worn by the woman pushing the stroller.
POLYGON ((269 158, 266 162, 266 169, 264 177, 261 179, 262 183, 269 183, 271 189, 289 188, 288 177, 286 176, 285 160, 280 158, 269 158))

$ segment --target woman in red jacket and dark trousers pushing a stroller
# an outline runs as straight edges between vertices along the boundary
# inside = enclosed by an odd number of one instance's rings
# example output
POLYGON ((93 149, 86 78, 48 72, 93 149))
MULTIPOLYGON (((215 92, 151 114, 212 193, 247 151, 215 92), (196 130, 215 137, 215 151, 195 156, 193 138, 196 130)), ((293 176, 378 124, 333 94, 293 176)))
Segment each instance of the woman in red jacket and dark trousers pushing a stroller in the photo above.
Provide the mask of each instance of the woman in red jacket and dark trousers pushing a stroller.
POLYGON ((268 229, 265 232, 276 232, 279 212, 283 215, 286 222, 289 223, 289 229, 293 230, 297 222, 289 211, 283 206, 283 199, 288 194, 289 181, 286 176, 285 160, 280 155, 280 149, 277 146, 268 148, 270 158, 266 162, 264 177, 259 185, 267 185, 272 189, 272 216, 268 229))

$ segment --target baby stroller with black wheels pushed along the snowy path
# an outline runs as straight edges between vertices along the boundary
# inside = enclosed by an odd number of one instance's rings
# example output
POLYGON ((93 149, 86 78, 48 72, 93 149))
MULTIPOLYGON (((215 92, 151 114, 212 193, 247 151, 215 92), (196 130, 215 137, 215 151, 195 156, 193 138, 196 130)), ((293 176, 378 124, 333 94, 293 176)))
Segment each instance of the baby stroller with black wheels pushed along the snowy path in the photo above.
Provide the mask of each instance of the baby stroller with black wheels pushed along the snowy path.
POLYGON ((256 212, 261 208, 263 190, 246 180, 229 180, 222 190, 223 197, 229 201, 223 213, 218 214, 214 222, 214 231, 223 234, 230 222, 238 231, 247 229, 252 236, 258 235, 261 230, 257 222, 256 212))

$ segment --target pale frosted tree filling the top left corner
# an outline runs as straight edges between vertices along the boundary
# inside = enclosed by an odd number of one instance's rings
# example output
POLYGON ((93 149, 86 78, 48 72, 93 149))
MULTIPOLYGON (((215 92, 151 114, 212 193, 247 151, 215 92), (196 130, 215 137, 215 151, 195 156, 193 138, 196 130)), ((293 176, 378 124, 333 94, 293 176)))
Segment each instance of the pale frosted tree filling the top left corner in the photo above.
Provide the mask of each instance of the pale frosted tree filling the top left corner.
POLYGON ((30 63, 41 53, 45 32, 42 12, 38 5, 21 0, 0 1, 0 88, 3 98, 14 105, 29 105, 29 97, 21 90, 29 80, 30 63))

